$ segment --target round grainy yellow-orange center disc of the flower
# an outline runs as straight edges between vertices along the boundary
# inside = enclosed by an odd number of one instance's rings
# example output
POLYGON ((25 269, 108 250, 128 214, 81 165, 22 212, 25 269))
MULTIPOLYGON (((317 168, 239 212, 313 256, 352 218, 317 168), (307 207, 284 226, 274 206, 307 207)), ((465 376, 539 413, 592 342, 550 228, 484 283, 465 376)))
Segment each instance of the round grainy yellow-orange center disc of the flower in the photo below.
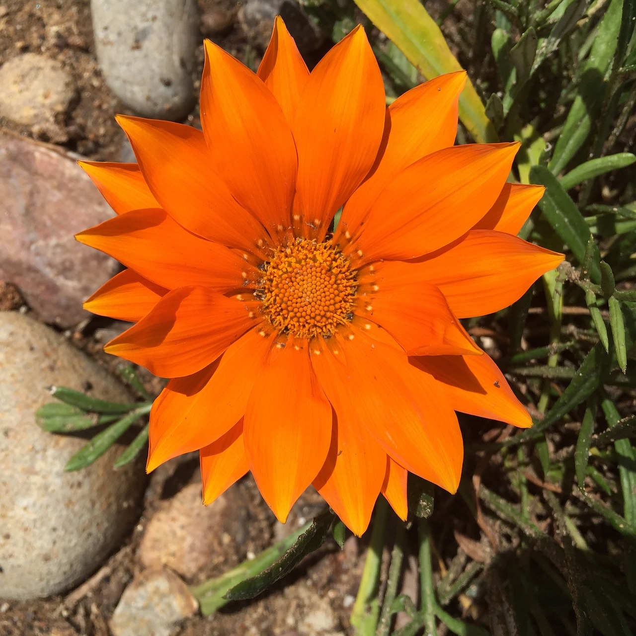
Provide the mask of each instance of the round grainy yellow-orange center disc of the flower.
POLYGON ((296 239, 265 264, 256 297, 280 333, 296 338, 333 335, 353 318, 356 272, 331 240, 296 239))

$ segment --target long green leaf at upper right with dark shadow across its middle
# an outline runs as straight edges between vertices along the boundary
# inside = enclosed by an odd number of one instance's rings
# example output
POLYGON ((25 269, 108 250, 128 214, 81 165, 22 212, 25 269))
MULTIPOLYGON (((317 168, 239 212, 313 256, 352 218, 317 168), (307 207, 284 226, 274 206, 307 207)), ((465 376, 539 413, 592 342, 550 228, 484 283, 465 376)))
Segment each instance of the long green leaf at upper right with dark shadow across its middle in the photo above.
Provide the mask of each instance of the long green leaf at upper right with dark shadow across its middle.
POLYGON ((548 168, 553 174, 558 174, 565 168, 590 134, 605 97, 604 78, 616 51, 622 10, 623 0, 611 0, 598 24, 590 55, 583 65, 577 95, 556 142, 552 159, 548 163, 548 168))

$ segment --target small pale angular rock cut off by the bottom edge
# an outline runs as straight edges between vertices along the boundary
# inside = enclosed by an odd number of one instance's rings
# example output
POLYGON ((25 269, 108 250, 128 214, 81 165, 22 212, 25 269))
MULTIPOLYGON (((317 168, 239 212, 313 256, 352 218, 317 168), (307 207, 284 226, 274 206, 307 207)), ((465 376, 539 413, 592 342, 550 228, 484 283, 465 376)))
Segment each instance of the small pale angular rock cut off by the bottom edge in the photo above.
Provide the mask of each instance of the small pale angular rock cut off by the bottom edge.
POLYGON ((111 631, 114 636, 170 636, 197 609, 197 601, 174 572, 144 570, 121 595, 111 631))

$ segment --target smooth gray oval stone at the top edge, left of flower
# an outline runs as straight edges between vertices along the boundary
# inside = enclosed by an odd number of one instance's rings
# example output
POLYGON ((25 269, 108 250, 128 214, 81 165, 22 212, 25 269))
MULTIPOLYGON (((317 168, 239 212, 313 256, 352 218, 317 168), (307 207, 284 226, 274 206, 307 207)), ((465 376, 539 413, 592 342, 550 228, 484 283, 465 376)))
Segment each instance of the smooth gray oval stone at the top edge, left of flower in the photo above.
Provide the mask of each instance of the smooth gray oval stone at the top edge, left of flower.
POLYGON ((196 0, 91 0, 97 60, 136 113, 183 119, 195 103, 196 0))

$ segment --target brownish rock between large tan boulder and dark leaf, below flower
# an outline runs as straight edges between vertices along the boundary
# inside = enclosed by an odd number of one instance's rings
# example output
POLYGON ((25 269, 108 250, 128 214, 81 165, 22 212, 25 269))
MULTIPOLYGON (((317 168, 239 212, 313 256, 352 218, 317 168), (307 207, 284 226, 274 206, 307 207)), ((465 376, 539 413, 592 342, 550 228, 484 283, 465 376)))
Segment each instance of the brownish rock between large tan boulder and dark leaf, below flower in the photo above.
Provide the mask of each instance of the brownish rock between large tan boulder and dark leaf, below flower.
POLYGON ((192 579, 221 550, 227 506, 225 495, 204 506, 201 484, 187 485, 166 501, 146 526, 139 546, 141 562, 146 567, 167 565, 192 579))

